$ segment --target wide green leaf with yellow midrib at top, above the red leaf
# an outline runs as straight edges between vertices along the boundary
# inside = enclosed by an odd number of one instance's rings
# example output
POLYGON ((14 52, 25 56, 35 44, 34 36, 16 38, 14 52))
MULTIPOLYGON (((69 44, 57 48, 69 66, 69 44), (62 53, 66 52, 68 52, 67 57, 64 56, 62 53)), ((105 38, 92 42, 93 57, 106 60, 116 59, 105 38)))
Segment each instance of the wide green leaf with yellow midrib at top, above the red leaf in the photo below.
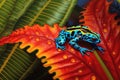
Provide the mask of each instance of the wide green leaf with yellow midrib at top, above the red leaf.
POLYGON ((76 0, 35 0, 31 7, 17 22, 16 27, 33 24, 59 23, 64 25, 76 0))

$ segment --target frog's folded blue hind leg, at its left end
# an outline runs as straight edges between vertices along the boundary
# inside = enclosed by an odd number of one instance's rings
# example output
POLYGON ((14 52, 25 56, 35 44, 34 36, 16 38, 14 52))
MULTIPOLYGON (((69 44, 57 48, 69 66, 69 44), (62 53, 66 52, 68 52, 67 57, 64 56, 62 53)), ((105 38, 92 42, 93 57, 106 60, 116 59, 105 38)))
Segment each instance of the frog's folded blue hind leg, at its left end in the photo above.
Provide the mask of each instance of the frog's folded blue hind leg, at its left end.
POLYGON ((65 46, 64 46, 65 42, 66 42, 65 31, 62 30, 59 36, 55 39, 57 49, 65 50, 65 46))

